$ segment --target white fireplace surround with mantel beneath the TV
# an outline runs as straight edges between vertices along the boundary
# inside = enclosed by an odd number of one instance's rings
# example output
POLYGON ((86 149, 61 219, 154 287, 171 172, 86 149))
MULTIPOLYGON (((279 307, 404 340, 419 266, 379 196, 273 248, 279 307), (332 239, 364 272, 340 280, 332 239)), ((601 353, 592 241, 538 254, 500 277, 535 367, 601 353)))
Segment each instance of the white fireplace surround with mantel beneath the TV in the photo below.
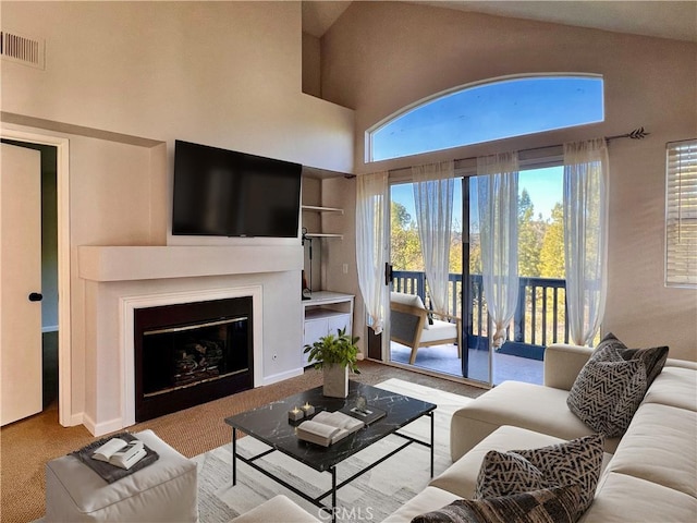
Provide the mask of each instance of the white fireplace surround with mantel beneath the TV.
POLYGON ((299 241, 288 246, 80 246, 78 257, 84 314, 73 351, 73 403, 80 411, 72 413, 72 424, 82 423, 93 435, 136 423, 138 308, 252 296, 254 387, 303 373, 299 241))

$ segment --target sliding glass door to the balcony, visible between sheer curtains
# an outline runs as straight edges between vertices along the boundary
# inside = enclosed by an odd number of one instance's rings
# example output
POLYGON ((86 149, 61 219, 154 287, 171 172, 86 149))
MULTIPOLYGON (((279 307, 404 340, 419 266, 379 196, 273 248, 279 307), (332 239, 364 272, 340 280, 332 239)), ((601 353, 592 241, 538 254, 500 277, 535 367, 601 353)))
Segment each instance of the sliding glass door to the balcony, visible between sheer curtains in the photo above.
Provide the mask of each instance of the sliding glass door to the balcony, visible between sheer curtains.
MULTIPOLYGON (((567 339, 563 230, 561 224, 561 167, 522 170, 518 193, 519 292, 508 341, 490 352, 489 318, 481 280, 481 245, 477 209, 477 177, 455 181, 449 275, 450 318, 431 311, 413 186, 391 185, 390 259, 392 291, 418 296, 428 321, 425 340, 416 346, 404 337, 386 340, 389 360, 428 372, 465 377, 486 384, 505 379, 541 382, 545 346, 567 339), (457 343, 439 342, 433 325, 438 319, 461 323, 457 343), (460 349, 462 348, 462 349, 460 349)), ((402 318, 403 319, 403 318, 402 318)), ((448 339, 448 337, 443 337, 448 339)))

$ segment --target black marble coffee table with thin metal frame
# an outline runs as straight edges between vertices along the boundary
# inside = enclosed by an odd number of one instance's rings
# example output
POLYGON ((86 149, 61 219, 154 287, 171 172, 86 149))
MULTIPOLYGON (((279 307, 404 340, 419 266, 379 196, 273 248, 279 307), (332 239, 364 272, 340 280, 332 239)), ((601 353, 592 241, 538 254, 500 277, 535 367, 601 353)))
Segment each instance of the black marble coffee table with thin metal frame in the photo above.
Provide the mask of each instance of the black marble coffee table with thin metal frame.
POLYGON ((412 443, 418 443, 430 448, 431 477, 433 476, 435 410, 436 405, 432 403, 408 398, 383 389, 378 389, 376 387, 370 387, 369 385, 350 381, 348 397, 345 400, 326 398, 322 396, 322 388, 317 387, 315 389, 301 392, 299 394, 276 401, 268 405, 243 412, 235 416, 227 417, 225 423, 232 427, 232 485, 234 486, 237 483, 236 461, 241 460, 304 499, 330 512, 332 514, 332 521, 335 521, 337 490, 412 443), (320 410, 333 412, 345 406, 353 406, 359 396, 364 396, 367 399, 368 405, 377 406, 378 409, 386 411, 387 416, 374 422, 369 426, 350 435, 330 447, 320 447, 318 445, 299 440, 295 435, 295 427, 297 426, 297 423, 289 422, 288 413, 295 406, 299 408, 309 403, 317 409, 317 412, 320 410), (421 416, 429 416, 431 418, 430 441, 420 441, 398 431, 400 428, 421 416), (237 430, 265 442, 271 448, 250 458, 237 454, 237 430), (339 463, 389 435, 399 436, 405 441, 375 463, 368 465, 363 471, 337 484, 337 465, 339 463), (318 497, 309 496, 293 485, 290 485, 282 478, 276 476, 271 472, 265 470, 259 463, 257 463, 257 460, 274 451, 283 452, 316 471, 329 472, 331 474, 331 488, 318 497), (330 495, 331 504, 327 506, 323 500, 330 495))

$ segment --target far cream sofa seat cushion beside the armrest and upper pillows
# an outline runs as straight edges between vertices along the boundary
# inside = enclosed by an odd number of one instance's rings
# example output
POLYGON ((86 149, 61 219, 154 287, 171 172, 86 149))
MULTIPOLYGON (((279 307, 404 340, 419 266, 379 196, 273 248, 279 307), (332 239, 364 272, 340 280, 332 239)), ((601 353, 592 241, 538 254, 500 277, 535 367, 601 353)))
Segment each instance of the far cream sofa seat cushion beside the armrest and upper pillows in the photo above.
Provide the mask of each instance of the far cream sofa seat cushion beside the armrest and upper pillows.
MULTIPOLYGON (((595 434, 568 410, 567 397, 566 390, 519 381, 504 381, 494 387, 453 415, 450 433, 453 461, 502 425, 565 440, 595 434)), ((606 452, 614 452, 619 441, 606 438, 606 452)))

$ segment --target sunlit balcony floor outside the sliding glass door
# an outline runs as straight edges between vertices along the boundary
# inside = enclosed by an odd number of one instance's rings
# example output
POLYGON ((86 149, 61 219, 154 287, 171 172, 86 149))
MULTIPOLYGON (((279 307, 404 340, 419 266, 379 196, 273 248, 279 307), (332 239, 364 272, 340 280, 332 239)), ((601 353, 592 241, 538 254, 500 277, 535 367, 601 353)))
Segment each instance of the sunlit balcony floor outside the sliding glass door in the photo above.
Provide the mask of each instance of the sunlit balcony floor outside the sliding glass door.
MULTIPOLYGON (((408 365, 412 352, 408 346, 392 341, 390 342, 390 351, 393 362, 408 365)), ((488 381, 487 360, 487 351, 469 349, 470 372, 467 377, 479 381, 488 381)), ((509 379, 528 384, 542 384, 542 362, 540 361, 494 352, 492 362, 494 385, 509 379)), ((420 348, 416 353, 414 366, 437 373, 462 376, 462 362, 457 357, 457 346, 453 344, 420 348)))

